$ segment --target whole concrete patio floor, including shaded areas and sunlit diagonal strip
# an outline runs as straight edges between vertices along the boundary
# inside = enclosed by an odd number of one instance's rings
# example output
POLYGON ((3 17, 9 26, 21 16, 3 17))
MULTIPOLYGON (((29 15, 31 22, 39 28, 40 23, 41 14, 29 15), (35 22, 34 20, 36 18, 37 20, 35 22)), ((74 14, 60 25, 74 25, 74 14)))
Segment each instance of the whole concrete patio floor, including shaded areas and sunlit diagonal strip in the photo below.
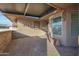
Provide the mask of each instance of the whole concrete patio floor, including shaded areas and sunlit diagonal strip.
POLYGON ((3 56, 76 56, 78 48, 54 46, 44 36, 27 36, 13 32, 13 40, 5 49, 3 56))

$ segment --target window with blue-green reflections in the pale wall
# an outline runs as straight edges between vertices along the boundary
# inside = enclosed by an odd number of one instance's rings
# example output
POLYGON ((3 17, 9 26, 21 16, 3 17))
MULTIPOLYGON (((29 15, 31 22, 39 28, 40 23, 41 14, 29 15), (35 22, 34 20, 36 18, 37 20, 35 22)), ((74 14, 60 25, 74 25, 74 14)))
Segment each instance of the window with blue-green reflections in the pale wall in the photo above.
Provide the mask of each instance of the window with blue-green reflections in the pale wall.
POLYGON ((52 19, 53 34, 61 35, 61 26, 62 26, 61 17, 56 17, 52 19))

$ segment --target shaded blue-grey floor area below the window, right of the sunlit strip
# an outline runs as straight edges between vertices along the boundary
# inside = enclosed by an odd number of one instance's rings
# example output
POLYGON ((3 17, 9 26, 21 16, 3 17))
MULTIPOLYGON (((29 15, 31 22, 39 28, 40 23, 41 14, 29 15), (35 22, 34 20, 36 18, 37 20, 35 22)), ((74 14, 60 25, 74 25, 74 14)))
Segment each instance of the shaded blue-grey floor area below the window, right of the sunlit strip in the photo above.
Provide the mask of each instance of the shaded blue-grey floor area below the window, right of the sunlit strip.
POLYGON ((60 56, 78 56, 78 47, 55 46, 60 56))

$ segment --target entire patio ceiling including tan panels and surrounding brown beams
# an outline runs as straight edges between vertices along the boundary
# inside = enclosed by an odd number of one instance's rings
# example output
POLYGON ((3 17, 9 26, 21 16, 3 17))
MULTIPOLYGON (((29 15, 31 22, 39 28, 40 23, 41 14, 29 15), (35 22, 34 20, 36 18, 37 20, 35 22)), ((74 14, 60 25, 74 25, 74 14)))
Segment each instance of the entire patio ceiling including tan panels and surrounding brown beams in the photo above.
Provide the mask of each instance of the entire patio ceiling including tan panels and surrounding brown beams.
POLYGON ((48 20, 51 15, 61 10, 71 9, 72 6, 74 6, 73 3, 0 3, 0 10, 11 19, 48 20))

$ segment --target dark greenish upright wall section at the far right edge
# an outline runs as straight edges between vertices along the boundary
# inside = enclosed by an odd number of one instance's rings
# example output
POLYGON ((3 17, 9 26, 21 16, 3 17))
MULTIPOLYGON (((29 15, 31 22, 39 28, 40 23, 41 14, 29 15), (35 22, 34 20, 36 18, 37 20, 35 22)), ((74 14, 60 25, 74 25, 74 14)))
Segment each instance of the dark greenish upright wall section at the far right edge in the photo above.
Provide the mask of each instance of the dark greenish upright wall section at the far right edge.
POLYGON ((74 45, 78 45, 78 10, 71 12, 71 39, 74 45))

